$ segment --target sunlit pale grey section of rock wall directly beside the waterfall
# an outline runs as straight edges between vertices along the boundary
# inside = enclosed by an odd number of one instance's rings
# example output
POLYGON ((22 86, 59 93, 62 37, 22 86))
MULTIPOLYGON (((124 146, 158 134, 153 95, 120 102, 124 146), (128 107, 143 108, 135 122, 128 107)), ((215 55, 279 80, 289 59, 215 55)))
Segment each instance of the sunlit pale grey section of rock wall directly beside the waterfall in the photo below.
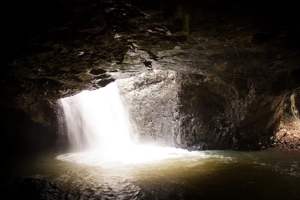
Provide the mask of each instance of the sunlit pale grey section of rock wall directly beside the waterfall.
MULTIPOLYGON (((175 146, 178 132, 178 73, 153 70, 117 80, 140 141, 175 146)), ((179 146, 179 143, 177 146, 179 146)))

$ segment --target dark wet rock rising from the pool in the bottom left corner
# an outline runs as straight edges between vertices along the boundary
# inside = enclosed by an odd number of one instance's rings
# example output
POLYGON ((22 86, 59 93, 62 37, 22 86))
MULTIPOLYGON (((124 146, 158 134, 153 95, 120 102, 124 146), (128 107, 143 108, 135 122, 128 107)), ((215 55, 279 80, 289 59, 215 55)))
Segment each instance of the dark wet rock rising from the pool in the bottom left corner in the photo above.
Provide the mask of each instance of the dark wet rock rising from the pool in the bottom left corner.
POLYGON ((23 178, 1 186, 1 195, 7 199, 59 200, 61 191, 57 184, 37 178, 23 178))

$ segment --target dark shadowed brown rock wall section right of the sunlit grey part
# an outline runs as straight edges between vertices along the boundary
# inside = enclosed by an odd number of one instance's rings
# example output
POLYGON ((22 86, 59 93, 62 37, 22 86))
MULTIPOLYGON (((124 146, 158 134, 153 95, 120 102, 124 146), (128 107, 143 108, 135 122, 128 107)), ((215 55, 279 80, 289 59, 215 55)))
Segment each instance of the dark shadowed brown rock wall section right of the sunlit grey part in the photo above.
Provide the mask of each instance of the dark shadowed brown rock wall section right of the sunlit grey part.
POLYGON ((243 88, 220 79, 184 75, 180 96, 180 133, 196 149, 231 148, 236 128, 255 98, 253 83, 238 80, 243 88))

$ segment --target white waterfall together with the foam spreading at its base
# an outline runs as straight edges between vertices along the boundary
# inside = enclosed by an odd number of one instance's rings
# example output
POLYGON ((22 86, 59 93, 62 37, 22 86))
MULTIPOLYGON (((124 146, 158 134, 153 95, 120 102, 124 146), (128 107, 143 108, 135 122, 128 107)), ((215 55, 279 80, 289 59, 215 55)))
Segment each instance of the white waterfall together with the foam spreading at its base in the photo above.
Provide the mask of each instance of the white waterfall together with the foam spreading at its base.
POLYGON ((136 144, 116 82, 62 98, 60 106, 72 153, 59 155, 57 159, 112 167, 166 158, 207 157, 202 152, 136 144))

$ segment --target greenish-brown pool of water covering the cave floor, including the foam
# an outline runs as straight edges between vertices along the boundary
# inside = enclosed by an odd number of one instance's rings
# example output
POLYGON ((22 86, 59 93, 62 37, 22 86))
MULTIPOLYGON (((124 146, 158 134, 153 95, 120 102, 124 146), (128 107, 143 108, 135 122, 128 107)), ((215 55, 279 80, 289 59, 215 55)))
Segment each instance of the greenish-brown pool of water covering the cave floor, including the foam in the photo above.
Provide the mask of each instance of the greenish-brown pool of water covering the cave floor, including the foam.
POLYGON ((125 150, 118 159, 100 159, 105 152, 23 157, 2 164, 2 180, 44 178, 63 189, 64 199, 300 198, 299 153, 154 151, 131 152, 134 159, 125 150))

